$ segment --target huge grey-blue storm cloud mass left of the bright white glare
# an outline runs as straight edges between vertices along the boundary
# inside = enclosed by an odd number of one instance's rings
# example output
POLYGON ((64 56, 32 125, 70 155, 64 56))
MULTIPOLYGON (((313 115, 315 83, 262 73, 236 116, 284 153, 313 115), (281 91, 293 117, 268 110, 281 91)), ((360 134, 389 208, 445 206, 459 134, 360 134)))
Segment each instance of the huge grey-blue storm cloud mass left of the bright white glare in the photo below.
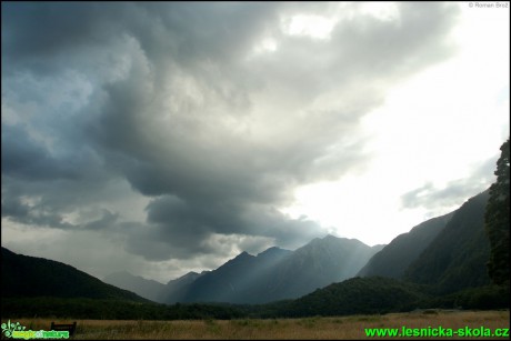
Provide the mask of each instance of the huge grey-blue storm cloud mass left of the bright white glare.
POLYGON ((93 204, 107 193, 92 191, 120 177, 151 198, 146 222, 127 228, 122 212, 98 208, 79 225, 122 231, 127 250, 151 260, 220 254, 219 235, 294 248, 324 234, 278 208, 300 184, 362 168, 360 118, 388 83, 453 52, 453 7, 414 4, 398 3, 398 22, 362 16, 313 40, 284 34, 281 19, 331 4, 2 3, 7 107, 24 110, 27 99, 9 94, 23 74, 59 84, 72 70, 83 79, 77 93, 92 89, 71 110, 36 101, 49 123, 2 121, 2 215, 72 228, 63 213, 93 204), (268 37, 277 50, 254 56, 268 37), (14 139, 20 127, 57 139, 59 156, 27 132, 14 139), (46 182, 56 179, 57 188, 46 182), (41 198, 29 209, 22 195, 41 198))

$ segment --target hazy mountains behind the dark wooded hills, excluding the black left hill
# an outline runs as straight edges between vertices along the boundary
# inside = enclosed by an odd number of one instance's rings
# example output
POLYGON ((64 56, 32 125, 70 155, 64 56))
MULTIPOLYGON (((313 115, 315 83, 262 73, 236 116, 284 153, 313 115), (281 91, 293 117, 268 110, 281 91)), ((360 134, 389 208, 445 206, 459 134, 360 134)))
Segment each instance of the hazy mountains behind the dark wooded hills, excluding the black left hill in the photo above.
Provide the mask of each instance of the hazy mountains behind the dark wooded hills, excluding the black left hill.
POLYGON ((300 298, 353 277, 374 275, 430 284, 439 293, 455 292, 490 283, 484 234, 488 198, 487 190, 458 210, 398 235, 388 245, 371 248, 354 239, 327 235, 295 251, 270 248, 258 255, 242 252, 213 271, 188 273, 160 284, 157 295, 157 291, 151 295, 149 281, 128 287, 136 279, 131 274, 106 281, 162 303, 267 303, 300 298))

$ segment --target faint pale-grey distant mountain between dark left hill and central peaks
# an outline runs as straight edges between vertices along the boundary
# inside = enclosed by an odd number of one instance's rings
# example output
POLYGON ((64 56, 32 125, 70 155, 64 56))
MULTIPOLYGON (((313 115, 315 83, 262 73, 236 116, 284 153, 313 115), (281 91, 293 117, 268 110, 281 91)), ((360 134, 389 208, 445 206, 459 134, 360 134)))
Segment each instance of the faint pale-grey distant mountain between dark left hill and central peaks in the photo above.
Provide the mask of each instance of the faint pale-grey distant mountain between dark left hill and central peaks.
POLYGON ((140 275, 133 275, 127 271, 107 275, 103 282, 126 289, 154 302, 161 302, 167 287, 154 280, 147 280, 140 275))

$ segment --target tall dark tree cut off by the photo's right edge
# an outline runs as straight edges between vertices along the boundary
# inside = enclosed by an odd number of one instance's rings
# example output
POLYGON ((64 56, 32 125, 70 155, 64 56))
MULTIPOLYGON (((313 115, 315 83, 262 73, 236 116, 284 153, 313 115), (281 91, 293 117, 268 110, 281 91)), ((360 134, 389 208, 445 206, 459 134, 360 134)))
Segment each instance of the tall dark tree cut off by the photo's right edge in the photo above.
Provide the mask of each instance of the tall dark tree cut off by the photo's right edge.
POLYGON ((485 231, 490 239, 488 271, 495 284, 509 284, 509 138, 497 161, 497 181, 490 187, 484 214, 485 231))

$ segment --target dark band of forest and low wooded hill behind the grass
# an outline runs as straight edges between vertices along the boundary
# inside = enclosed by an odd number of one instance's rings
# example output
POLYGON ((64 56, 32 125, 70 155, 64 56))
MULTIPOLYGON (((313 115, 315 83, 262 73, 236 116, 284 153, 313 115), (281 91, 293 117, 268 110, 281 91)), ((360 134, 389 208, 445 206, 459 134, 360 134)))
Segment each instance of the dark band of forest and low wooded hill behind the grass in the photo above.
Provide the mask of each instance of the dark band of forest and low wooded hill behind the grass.
POLYGON ((438 295, 431 287, 371 277, 319 289, 297 300, 268 304, 177 303, 171 305, 90 298, 2 298, 2 315, 97 320, 231 320, 381 314, 415 309, 509 308, 509 287, 487 285, 438 295))

